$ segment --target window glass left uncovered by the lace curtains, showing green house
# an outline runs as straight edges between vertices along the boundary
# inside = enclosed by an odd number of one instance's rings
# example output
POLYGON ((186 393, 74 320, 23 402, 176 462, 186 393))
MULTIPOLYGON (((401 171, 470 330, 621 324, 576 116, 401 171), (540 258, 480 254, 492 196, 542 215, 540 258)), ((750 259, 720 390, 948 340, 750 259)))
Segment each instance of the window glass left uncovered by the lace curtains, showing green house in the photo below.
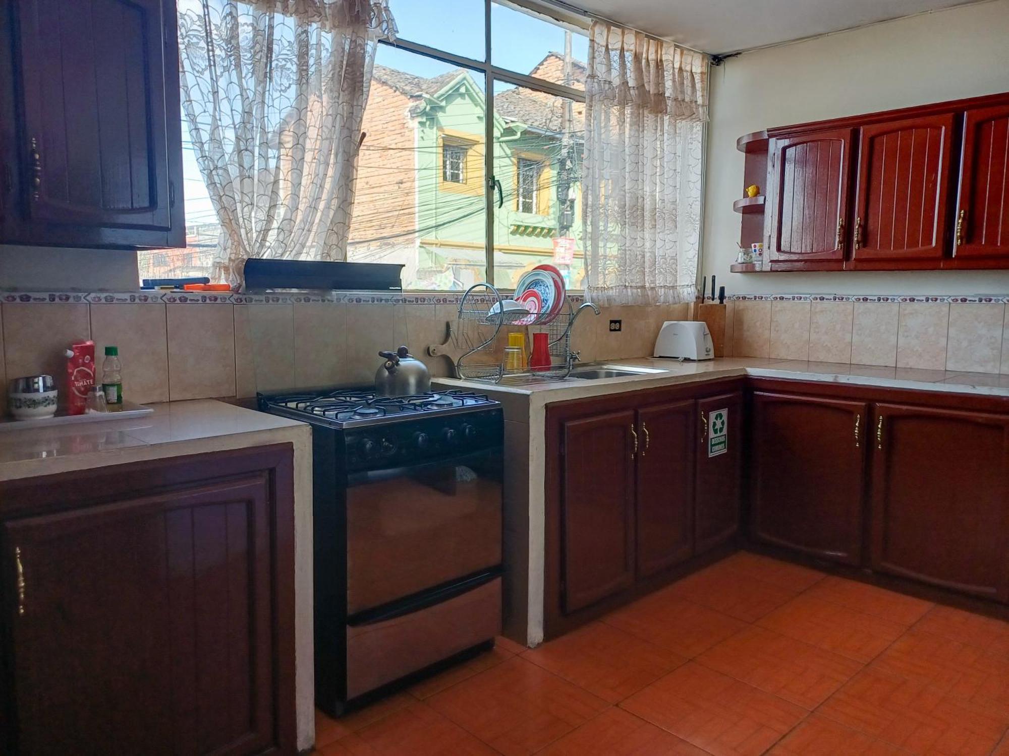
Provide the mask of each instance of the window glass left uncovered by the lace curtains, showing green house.
MULTIPOLYGON (((512 288, 541 263, 582 287, 588 24, 524 1, 441 0, 432 14, 389 0, 399 35, 375 53, 348 260, 402 264, 414 290, 512 288)), ((185 118, 183 140, 187 248, 141 252, 141 278, 212 275, 220 226, 185 118)))

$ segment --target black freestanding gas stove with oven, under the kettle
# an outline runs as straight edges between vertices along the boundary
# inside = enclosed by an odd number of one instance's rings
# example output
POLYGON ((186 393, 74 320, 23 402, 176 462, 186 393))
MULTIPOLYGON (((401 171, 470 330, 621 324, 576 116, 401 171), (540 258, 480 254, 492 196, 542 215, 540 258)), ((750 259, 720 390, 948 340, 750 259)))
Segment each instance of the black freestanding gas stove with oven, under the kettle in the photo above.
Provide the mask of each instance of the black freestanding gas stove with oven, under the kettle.
POLYGON ((492 643, 500 404, 360 388, 258 401, 312 425, 317 706, 338 715, 492 643))

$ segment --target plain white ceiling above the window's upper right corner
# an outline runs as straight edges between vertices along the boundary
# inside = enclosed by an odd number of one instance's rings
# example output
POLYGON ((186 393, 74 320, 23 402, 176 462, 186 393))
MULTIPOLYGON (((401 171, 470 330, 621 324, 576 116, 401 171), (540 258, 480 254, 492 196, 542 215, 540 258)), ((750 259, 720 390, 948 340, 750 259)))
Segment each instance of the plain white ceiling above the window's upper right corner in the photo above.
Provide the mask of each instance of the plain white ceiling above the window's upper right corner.
POLYGON ((704 52, 725 53, 977 0, 568 0, 704 52))

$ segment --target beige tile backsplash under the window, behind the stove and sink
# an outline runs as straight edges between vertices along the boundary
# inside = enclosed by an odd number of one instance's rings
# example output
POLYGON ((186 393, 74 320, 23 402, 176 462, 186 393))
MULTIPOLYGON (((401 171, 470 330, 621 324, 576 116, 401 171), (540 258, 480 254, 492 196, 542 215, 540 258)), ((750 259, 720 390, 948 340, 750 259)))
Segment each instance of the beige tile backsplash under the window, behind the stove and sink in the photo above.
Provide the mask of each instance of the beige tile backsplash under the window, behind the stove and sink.
MULTIPOLYGON (((119 347, 124 395, 157 402, 248 397, 257 390, 368 384, 380 349, 401 344, 432 375, 450 364, 429 357, 454 321, 450 296, 216 296, 174 294, 0 294, 0 379, 49 373, 63 381, 63 351, 93 339, 101 364, 106 345, 119 347), (357 298, 373 301, 355 301, 357 298)), ((602 308, 583 313, 572 348, 584 362, 651 353, 659 326, 685 320, 688 305, 602 308), (623 331, 610 334, 610 320, 623 331)), ((6 391, 0 392, 0 412, 6 391)))

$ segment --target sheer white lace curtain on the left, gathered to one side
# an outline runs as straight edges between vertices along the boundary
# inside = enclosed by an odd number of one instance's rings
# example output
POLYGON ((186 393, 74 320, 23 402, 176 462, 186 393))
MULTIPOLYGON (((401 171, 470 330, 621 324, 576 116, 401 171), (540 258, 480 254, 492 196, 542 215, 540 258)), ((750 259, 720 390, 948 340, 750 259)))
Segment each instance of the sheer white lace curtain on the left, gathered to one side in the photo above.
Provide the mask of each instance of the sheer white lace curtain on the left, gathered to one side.
POLYGON ((221 231, 214 280, 249 257, 343 260, 387 0, 180 0, 183 110, 221 231))

